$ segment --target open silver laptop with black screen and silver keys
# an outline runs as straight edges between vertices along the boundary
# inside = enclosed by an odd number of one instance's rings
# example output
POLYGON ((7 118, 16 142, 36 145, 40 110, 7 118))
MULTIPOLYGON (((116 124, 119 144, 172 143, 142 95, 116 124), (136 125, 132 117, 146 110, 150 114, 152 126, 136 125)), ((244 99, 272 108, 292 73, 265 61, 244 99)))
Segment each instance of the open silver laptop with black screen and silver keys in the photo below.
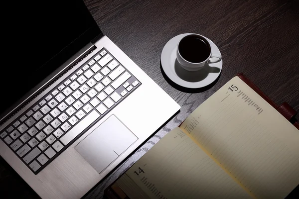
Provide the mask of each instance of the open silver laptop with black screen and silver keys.
POLYGON ((25 3, 1 77, 0 155, 41 198, 81 198, 180 106, 83 1, 25 3))

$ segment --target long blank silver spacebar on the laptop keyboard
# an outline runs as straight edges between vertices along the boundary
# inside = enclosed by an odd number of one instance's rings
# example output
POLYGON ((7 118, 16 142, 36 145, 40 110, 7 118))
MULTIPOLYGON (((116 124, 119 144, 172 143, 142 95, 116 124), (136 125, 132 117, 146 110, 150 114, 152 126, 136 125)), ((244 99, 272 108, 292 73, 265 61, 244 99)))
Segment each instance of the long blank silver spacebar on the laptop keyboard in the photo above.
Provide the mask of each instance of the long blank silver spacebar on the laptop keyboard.
POLYGON ((74 126, 69 132, 64 134, 60 141, 67 145, 70 141, 72 141, 77 135, 79 135, 82 131, 84 131, 92 122, 100 117, 100 114, 93 110, 90 112, 83 120, 81 120, 76 126, 74 126))

